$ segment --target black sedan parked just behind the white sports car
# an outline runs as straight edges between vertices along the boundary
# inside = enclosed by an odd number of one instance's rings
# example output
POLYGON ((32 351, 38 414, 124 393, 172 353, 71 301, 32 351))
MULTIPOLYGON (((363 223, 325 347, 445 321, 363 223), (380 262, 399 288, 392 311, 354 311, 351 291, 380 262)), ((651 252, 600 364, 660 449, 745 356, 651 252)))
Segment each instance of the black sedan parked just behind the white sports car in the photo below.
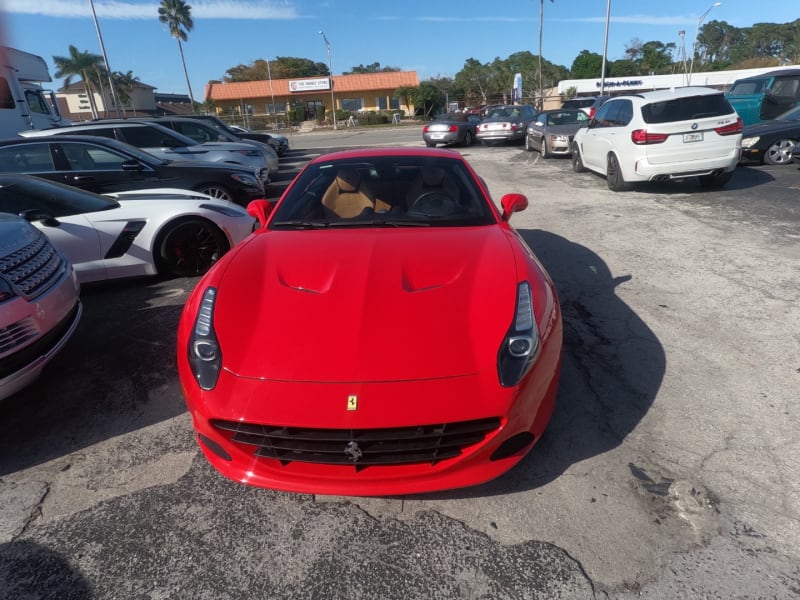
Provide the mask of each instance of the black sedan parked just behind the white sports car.
POLYGON ((250 169, 162 160, 117 140, 88 135, 2 140, 0 172, 37 175, 97 194, 183 188, 241 205, 265 195, 250 169))

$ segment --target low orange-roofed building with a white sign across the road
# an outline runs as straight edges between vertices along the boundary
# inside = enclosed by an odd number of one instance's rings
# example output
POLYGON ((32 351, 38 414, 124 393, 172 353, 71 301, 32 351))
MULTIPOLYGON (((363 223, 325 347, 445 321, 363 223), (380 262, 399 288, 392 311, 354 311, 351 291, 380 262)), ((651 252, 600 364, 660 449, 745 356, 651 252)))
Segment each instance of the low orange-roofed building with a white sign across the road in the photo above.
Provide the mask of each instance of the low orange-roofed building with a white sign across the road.
POLYGON ((307 118, 314 119, 329 114, 332 101, 336 110, 413 114, 410 100, 394 94, 398 88, 418 86, 416 71, 208 83, 205 101, 213 102, 220 115, 278 115, 304 107, 307 118))

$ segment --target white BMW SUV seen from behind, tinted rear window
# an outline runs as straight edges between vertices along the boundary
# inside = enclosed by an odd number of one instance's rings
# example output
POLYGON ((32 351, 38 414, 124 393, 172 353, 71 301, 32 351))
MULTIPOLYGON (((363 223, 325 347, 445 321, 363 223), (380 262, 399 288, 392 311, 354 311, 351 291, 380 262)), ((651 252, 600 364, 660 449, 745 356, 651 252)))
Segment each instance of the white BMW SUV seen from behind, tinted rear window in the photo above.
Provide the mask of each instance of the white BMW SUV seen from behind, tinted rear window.
POLYGON ((721 187, 742 150, 742 119, 713 88, 616 96, 575 134, 572 168, 605 175, 609 189, 637 181, 698 177, 721 187))

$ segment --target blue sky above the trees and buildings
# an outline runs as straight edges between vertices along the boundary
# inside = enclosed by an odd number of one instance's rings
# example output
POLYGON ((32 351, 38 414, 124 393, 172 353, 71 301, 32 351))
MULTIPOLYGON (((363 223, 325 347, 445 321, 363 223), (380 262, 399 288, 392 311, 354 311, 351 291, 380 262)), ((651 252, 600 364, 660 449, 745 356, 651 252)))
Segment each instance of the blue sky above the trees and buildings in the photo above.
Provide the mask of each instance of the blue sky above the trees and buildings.
MULTIPOLYGON (((379 2, 375 0, 188 0, 194 29, 184 45, 197 100, 206 82, 256 59, 277 56, 328 62, 333 73, 378 62, 417 71, 420 79, 453 76, 464 61, 482 63, 527 50, 538 54, 539 0, 379 2)), ((698 19, 736 27, 787 23, 800 17, 797 0, 610 0, 608 58, 624 56, 638 38, 680 44, 687 51, 698 19), (713 6, 713 8, 712 8, 713 6)), ((94 0, 108 61, 133 71, 162 93, 186 93, 177 43, 158 22, 159 0, 94 0)), ((602 53, 607 0, 545 0, 542 55, 569 67, 581 50, 602 53)), ((100 54, 89 0, 0 0, 5 44, 52 57, 70 44, 100 54)), ((53 87, 61 85, 56 82, 53 87)))

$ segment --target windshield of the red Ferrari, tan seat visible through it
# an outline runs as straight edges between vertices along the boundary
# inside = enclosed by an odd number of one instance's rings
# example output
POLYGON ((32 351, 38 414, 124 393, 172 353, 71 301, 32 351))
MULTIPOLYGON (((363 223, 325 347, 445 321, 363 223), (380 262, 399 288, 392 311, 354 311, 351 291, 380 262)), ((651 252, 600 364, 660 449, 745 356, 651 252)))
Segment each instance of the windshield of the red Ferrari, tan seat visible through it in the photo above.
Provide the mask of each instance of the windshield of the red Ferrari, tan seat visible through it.
POLYGON ((309 165, 270 228, 472 226, 495 223, 463 161, 381 156, 309 165))

